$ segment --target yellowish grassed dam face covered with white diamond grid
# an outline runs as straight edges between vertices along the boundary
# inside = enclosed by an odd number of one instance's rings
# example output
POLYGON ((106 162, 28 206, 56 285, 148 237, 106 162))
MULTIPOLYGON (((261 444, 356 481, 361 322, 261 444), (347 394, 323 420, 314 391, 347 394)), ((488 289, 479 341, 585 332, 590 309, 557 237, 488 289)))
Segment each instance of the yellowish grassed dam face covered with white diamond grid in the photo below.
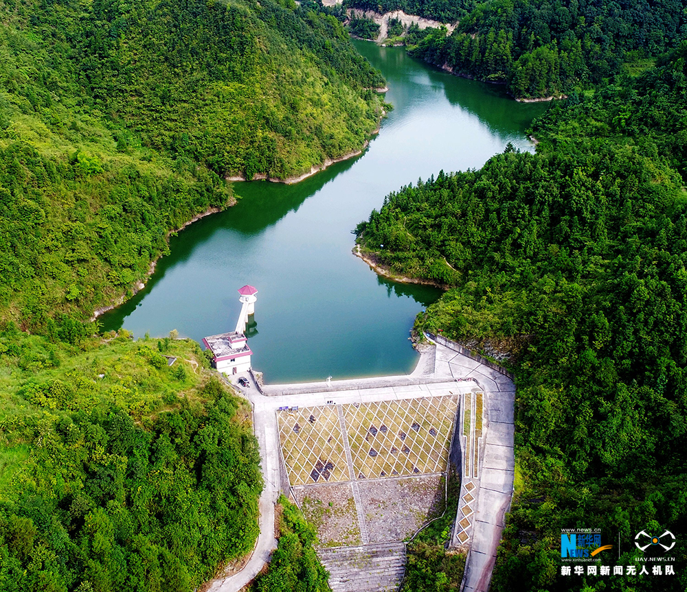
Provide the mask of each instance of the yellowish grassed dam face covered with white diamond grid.
POLYGON ((280 410, 279 439, 292 486, 446 471, 458 395, 280 410), (342 434, 343 430, 346 434, 342 434), (343 438, 346 438, 344 442, 343 438))

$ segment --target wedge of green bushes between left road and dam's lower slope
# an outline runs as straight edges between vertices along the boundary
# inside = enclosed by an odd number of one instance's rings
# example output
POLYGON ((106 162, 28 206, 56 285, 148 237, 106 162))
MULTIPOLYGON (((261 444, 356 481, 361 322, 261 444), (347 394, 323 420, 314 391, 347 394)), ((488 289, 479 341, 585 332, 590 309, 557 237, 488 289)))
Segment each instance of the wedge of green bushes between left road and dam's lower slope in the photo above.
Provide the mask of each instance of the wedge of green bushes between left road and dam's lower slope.
POLYGON ((329 574, 319 563, 313 547, 317 537, 315 527, 283 495, 278 504, 281 510, 279 545, 267 572, 256 578, 254 591, 328 592, 329 574))

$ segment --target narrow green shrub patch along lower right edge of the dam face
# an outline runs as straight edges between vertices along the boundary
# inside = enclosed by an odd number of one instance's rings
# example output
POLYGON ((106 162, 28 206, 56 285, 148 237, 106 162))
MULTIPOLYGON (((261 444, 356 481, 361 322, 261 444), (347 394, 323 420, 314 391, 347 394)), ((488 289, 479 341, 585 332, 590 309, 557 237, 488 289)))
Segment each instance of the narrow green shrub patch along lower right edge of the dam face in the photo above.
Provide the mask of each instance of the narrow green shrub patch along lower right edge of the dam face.
POLYGON ((460 499, 460 478, 449 471, 449 485, 444 513, 433 520, 411 541, 406 549, 403 592, 450 592, 460 590, 465 569, 465 555, 444 548, 451 536, 460 499))

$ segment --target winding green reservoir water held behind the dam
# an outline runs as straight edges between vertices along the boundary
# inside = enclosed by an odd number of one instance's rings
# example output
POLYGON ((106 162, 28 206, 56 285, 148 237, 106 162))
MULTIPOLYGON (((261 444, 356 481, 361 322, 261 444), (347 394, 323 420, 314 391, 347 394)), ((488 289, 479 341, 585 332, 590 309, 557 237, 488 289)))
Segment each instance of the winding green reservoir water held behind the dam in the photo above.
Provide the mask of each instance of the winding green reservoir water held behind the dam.
POLYGON ((394 105, 368 150, 296 185, 235 183, 238 204, 172 237, 146 288, 104 315, 104 329, 177 329, 195 340, 230 331, 236 290, 249 283, 258 288, 253 367, 268 382, 414 366, 409 330, 440 292, 376 276, 351 254, 350 231, 418 178, 481 167, 508 142, 532 150, 524 130, 546 106, 433 69, 402 47, 356 45, 387 78, 394 105))

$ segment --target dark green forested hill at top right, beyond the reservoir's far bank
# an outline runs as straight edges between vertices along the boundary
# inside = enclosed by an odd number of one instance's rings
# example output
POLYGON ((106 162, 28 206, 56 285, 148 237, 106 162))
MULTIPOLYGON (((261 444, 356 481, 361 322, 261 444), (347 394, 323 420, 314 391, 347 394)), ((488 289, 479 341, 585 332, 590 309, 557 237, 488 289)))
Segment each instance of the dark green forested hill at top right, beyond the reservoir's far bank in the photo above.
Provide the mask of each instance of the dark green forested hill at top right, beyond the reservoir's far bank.
POLYGON ((686 8, 673 0, 492 0, 477 4, 450 36, 439 29, 427 36, 413 55, 504 82, 515 97, 556 96, 679 45, 687 39, 686 8))

